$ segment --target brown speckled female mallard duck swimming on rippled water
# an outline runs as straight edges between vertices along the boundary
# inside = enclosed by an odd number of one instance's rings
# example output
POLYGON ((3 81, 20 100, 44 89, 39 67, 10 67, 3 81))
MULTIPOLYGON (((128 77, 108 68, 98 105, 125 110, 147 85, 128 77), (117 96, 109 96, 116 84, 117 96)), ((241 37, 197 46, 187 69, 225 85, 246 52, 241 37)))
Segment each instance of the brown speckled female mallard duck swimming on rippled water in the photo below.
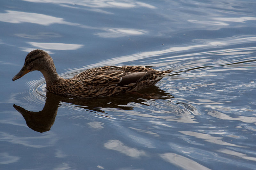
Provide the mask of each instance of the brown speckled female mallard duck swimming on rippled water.
POLYGON ((85 70, 73 78, 61 78, 52 57, 43 50, 28 53, 25 64, 12 81, 30 71, 44 75, 49 92, 80 98, 111 96, 155 85, 172 70, 157 71, 140 66, 105 66, 85 70))

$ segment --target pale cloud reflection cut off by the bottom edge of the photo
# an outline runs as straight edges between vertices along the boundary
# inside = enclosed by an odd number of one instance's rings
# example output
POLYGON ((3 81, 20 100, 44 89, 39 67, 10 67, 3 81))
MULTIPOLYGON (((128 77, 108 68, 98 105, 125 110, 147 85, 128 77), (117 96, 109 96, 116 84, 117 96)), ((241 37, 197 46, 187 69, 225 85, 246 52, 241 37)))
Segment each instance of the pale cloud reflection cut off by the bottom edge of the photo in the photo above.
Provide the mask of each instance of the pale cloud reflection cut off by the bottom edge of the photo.
POLYGON ((162 159, 164 159, 167 162, 170 162, 171 164, 178 166, 182 169, 190 169, 190 170, 210 170, 209 168, 197 163, 196 161, 192 159, 188 159, 184 156, 181 156, 176 153, 163 153, 159 154, 162 159))

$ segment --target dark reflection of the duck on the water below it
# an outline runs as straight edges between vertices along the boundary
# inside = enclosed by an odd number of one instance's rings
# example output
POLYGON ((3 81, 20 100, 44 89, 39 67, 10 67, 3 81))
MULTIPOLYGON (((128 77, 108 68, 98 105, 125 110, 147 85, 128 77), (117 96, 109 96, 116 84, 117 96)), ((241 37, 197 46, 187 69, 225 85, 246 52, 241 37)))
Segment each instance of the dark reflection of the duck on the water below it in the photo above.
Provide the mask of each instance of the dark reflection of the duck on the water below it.
POLYGON ((138 92, 125 93, 123 95, 103 98, 91 98, 91 99, 70 99, 68 97, 59 96, 46 92, 46 101, 43 110, 39 112, 31 112, 20 106, 13 105, 13 107, 20 112, 24 117, 28 127, 37 132, 46 132, 51 129, 55 117, 57 115, 60 102, 66 102, 81 107, 86 110, 104 113, 101 116, 108 117, 108 114, 104 112, 104 108, 116 108, 122 110, 133 110, 133 107, 127 106, 129 103, 140 103, 147 105, 147 100, 158 99, 171 99, 173 96, 156 86, 140 90, 138 92))

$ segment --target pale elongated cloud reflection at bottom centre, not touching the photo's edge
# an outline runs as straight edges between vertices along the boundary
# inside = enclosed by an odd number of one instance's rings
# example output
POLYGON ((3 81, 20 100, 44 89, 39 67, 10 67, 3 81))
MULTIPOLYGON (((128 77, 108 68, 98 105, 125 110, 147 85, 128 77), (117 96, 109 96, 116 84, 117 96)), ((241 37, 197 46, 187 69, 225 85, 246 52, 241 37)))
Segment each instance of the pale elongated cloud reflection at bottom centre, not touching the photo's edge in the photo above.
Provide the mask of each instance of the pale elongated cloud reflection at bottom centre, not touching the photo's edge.
POLYGON ((124 145, 119 140, 109 140, 107 143, 104 144, 104 147, 107 149, 118 151, 133 158, 146 156, 146 152, 138 150, 136 148, 130 148, 129 146, 124 145))

